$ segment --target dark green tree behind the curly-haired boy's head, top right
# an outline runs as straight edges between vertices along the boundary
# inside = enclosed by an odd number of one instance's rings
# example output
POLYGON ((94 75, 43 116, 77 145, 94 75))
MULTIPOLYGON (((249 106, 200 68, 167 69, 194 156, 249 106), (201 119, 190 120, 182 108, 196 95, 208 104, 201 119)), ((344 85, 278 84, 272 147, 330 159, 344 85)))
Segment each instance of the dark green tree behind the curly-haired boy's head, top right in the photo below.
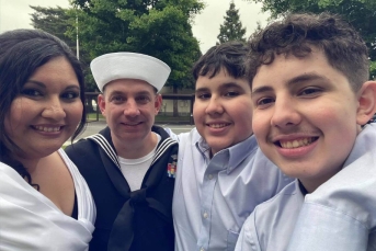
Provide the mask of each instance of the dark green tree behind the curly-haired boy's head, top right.
POLYGON ((247 0, 261 2, 263 11, 270 11, 276 19, 288 13, 328 11, 340 14, 350 22, 362 35, 369 48, 371 78, 376 76, 376 1, 375 0, 247 0))

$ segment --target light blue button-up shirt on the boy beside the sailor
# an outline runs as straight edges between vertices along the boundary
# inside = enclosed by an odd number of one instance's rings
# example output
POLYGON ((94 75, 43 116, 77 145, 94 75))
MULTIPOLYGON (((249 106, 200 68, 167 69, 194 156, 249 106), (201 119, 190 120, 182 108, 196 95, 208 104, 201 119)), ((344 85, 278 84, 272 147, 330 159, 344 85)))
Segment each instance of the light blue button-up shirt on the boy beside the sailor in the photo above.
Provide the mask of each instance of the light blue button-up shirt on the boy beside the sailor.
POLYGON ((258 147, 254 136, 217 152, 194 128, 170 135, 179 140, 172 203, 176 251, 233 250, 254 207, 293 179, 284 175, 258 147))

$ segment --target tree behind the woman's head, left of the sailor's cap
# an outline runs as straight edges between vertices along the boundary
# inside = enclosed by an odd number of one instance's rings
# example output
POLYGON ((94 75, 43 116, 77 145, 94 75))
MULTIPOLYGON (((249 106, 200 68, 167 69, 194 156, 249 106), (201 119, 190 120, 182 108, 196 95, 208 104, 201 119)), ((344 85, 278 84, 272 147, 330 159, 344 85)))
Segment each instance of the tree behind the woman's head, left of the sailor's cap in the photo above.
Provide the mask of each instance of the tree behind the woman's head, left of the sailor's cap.
MULTIPOLYGON (((39 28, 45 32, 48 32, 68 44, 71 50, 77 53, 77 41, 76 34, 75 37, 68 36, 67 31, 76 28, 76 15, 67 9, 60 7, 56 8, 43 8, 43 7, 33 7, 34 10, 32 15, 32 26, 34 28, 39 28)), ((75 30, 76 31, 76 30, 75 30)), ((94 83, 90 72, 89 64, 90 57, 84 49, 80 49, 79 58, 82 62, 82 68, 86 76, 86 91, 94 91, 96 84, 94 83)))

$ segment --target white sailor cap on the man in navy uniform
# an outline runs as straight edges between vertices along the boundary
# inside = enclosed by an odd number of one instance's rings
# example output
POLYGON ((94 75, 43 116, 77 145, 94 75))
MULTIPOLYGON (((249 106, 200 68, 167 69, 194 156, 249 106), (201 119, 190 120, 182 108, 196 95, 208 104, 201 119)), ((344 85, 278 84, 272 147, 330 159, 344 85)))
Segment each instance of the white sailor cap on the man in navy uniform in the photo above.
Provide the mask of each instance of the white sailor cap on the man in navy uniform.
POLYGON ((90 68, 101 92, 106 83, 116 79, 144 80, 159 92, 171 72, 158 58, 136 53, 104 54, 94 58, 90 68))

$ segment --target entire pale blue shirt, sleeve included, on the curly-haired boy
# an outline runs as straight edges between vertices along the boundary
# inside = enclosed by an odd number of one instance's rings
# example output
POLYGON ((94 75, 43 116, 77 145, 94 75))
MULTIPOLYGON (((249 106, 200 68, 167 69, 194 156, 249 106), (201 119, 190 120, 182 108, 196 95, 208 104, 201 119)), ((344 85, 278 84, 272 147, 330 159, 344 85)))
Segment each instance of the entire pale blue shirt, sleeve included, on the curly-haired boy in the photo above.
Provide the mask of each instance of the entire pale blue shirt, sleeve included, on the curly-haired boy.
POLYGON ((236 250, 375 251, 375 124, 357 136, 343 167, 305 197, 296 180, 259 205, 246 220, 236 250))

